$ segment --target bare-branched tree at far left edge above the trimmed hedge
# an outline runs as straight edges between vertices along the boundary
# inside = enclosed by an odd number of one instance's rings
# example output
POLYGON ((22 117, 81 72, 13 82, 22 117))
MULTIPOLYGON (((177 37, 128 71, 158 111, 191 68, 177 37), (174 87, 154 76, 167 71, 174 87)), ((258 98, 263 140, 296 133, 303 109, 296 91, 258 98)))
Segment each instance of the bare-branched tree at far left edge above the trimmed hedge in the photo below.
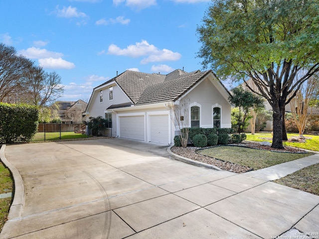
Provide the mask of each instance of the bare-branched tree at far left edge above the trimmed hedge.
POLYGON ((33 62, 0 43, 0 102, 16 103, 25 89, 33 62))

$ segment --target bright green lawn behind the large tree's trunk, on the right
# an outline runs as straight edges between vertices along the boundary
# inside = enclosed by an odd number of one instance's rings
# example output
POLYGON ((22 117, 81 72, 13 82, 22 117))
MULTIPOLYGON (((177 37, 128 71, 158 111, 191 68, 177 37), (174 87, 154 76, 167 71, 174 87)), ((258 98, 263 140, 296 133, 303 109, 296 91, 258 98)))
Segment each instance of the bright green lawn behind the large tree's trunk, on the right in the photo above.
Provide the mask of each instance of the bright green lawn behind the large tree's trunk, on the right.
MULTIPOLYGON (((272 142, 273 135, 271 133, 247 133, 247 139, 250 141, 268 141, 272 142)), ((292 136, 299 136, 299 134, 296 133, 288 133, 287 134, 288 139, 292 136)), ((310 135, 310 134, 304 134, 305 137, 310 137, 310 139, 306 139, 306 143, 298 143, 298 142, 283 142, 285 146, 291 146, 296 148, 303 148, 313 151, 319 151, 319 135, 310 135)))

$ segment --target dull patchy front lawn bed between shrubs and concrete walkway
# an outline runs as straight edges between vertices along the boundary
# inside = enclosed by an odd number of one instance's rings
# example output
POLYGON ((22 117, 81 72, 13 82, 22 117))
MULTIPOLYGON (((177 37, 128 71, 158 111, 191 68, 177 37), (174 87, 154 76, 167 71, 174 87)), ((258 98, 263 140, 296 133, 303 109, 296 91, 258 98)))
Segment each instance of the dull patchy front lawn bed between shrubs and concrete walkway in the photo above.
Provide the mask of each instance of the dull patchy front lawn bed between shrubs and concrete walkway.
POLYGON ((270 167, 276 164, 288 162, 298 158, 303 158, 313 153, 284 153, 272 152, 268 150, 260 150, 239 146, 217 146, 198 150, 197 153, 236 163, 243 166, 248 166, 253 170, 270 167))

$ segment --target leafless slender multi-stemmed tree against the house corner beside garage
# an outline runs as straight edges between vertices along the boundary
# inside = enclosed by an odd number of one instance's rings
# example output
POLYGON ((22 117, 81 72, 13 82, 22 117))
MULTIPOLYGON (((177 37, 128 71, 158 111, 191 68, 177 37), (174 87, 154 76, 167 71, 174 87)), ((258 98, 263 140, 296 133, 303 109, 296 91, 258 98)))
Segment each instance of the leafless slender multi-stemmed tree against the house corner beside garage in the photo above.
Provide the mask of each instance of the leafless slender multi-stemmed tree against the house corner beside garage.
POLYGON ((175 129, 179 131, 179 139, 182 147, 187 147, 189 132, 189 99, 184 98, 169 106, 170 118, 174 122, 175 129))

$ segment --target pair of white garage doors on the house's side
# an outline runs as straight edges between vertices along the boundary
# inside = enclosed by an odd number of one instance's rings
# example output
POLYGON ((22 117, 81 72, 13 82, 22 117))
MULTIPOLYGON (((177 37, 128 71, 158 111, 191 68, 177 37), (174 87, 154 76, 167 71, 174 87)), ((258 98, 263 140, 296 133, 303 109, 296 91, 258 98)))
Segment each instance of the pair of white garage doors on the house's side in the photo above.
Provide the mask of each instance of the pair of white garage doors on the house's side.
POLYGON ((150 115, 147 123, 144 116, 119 117, 120 137, 160 144, 169 143, 168 115, 150 115))

